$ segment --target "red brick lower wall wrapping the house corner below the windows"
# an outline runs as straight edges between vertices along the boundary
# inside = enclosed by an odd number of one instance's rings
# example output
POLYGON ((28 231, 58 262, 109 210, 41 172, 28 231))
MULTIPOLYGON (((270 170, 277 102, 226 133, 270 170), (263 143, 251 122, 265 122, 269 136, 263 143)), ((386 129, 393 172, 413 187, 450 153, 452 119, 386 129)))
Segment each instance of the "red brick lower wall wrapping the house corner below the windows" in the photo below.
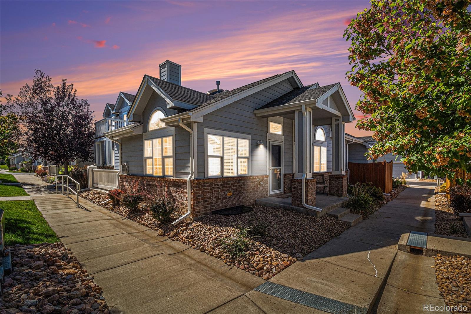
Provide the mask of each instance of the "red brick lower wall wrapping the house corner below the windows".
MULTIPOLYGON (((166 189, 182 213, 187 211, 187 180, 138 175, 120 175, 120 188, 138 181, 141 190, 157 195, 166 189)), ((192 216, 238 205, 252 205, 268 197, 268 175, 191 180, 192 216)))

